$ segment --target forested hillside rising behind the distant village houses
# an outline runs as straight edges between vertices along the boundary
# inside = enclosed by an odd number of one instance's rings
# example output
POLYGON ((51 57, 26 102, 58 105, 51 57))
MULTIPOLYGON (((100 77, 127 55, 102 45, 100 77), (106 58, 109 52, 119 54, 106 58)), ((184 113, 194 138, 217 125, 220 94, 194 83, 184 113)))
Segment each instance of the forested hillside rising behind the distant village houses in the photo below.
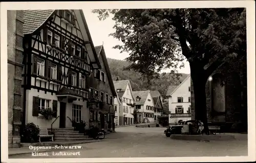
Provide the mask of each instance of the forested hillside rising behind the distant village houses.
POLYGON ((133 91, 158 90, 161 94, 165 95, 169 85, 179 85, 188 75, 181 74, 177 78, 170 73, 161 73, 159 78, 152 78, 148 83, 148 79, 142 77, 142 74, 139 72, 123 70, 130 65, 129 62, 108 58, 108 63, 113 80, 115 81, 117 77, 119 80, 130 80, 133 91))

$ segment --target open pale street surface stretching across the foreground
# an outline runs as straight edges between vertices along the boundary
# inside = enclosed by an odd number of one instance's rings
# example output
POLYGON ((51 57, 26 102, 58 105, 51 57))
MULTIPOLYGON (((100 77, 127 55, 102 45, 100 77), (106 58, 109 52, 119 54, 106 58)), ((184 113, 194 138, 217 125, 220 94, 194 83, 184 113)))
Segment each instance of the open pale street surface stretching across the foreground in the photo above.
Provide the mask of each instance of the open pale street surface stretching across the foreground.
POLYGON ((185 157, 185 156, 246 156, 247 134, 236 134, 232 141, 184 141, 165 137, 165 128, 116 128, 103 142, 79 144, 82 149, 55 149, 49 156, 32 154, 13 155, 9 158, 72 158, 72 157, 185 157), (76 156, 54 156, 58 152, 78 152, 76 156))

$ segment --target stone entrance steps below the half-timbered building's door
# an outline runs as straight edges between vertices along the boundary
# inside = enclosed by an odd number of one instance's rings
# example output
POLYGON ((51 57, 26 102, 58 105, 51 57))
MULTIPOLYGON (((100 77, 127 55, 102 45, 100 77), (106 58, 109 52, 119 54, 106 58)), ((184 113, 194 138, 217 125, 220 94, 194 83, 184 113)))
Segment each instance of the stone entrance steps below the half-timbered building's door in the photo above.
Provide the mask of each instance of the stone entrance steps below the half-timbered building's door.
POLYGON ((88 138, 88 136, 83 135, 83 133, 74 131, 73 128, 60 128, 55 130, 54 140, 55 141, 83 141, 83 140, 91 140, 91 138, 88 138))

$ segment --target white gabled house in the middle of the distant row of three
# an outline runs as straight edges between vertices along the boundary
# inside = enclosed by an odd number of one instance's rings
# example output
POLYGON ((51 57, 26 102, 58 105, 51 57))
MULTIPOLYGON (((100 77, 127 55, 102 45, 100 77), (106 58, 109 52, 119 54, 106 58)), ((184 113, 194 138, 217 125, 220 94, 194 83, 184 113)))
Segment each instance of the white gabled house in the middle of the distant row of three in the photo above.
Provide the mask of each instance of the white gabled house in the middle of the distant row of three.
POLYGON ((150 91, 134 91, 134 98, 136 99, 136 109, 139 114, 137 116, 138 123, 155 122, 157 119, 156 107, 150 91))

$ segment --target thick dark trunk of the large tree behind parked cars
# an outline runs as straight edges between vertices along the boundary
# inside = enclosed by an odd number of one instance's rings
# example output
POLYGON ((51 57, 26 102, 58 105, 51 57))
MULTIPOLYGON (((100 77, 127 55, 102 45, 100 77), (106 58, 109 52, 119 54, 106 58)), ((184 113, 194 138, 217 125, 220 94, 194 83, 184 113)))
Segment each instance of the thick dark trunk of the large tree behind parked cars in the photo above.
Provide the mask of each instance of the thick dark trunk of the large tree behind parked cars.
POLYGON ((207 110, 206 110, 206 93, 205 85, 207 78, 203 69, 191 67, 191 79, 194 87, 194 100, 195 100, 195 116, 196 120, 201 120, 204 123, 204 129, 208 134, 207 125, 207 110))

